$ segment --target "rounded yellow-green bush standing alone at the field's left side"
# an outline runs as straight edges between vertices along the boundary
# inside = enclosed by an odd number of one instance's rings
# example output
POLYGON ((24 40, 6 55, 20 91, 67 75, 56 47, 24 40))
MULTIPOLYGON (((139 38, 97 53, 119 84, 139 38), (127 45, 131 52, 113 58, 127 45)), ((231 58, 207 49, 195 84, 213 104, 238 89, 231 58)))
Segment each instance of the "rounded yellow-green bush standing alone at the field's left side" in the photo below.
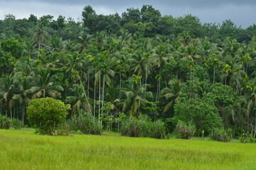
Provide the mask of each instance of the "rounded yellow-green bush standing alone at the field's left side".
POLYGON ((55 135, 57 125, 64 122, 69 109, 69 105, 54 98, 36 98, 27 108, 28 121, 40 134, 55 135))

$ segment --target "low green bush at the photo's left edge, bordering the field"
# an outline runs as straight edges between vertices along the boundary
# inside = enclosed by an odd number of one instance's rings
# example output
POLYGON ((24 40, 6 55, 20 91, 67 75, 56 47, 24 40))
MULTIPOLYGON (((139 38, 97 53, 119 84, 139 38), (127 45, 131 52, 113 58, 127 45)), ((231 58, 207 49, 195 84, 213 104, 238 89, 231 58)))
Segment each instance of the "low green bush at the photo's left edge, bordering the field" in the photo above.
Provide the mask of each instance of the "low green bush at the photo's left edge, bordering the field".
POLYGON ((17 119, 8 118, 5 115, 0 115, 0 129, 21 128, 21 121, 17 119))

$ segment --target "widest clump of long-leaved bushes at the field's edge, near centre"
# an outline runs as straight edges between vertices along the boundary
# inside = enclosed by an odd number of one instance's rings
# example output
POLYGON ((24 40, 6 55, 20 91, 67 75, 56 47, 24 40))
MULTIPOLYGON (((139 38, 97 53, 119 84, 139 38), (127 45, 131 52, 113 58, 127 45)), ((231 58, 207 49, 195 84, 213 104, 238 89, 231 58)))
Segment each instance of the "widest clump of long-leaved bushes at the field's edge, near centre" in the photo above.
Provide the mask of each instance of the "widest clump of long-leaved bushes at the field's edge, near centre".
POLYGON ((128 118, 121 123, 121 134, 129 137, 165 138, 165 123, 157 120, 155 123, 147 115, 138 118, 128 118))

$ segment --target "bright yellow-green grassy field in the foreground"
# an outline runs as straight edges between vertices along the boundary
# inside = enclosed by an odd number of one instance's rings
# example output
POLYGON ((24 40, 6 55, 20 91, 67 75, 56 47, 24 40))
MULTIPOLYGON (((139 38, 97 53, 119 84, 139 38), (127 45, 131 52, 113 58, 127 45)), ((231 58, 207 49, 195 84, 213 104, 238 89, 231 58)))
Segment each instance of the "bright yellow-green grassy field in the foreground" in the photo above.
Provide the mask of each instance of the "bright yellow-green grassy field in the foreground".
POLYGON ((256 145, 0 130, 0 169, 256 169, 256 145))

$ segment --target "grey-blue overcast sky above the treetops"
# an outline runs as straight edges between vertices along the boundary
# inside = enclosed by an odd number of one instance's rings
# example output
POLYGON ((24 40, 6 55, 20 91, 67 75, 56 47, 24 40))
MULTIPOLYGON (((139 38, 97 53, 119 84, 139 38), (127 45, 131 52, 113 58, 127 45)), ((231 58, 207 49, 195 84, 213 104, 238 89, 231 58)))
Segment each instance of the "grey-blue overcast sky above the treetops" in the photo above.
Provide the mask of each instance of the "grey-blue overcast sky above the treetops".
POLYGON ((123 13, 126 8, 141 8, 150 4, 162 15, 174 17, 192 14, 201 23, 222 23, 231 19, 237 26, 247 28, 256 23, 255 0, 0 0, 0 19, 8 13, 16 18, 62 15, 77 20, 84 6, 92 6, 98 14, 123 13))

